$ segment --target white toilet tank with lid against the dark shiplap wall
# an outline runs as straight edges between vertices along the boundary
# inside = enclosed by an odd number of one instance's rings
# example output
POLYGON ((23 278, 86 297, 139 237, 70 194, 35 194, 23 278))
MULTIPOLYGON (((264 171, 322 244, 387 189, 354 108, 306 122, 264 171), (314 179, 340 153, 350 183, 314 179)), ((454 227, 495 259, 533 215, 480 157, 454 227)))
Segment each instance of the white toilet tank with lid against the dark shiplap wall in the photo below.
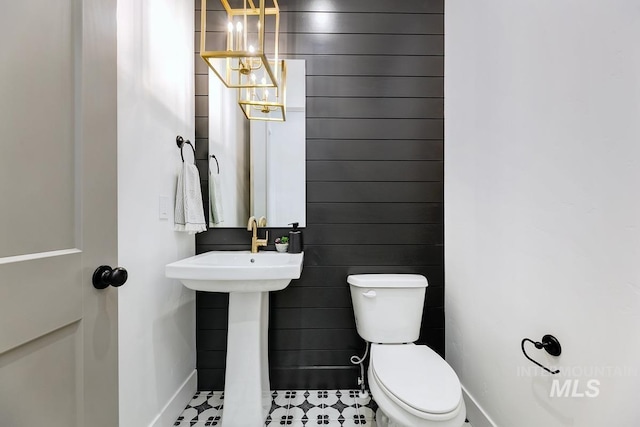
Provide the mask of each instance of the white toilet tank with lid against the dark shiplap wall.
POLYGON ((356 329, 365 340, 395 344, 420 335, 427 279, 418 274, 354 274, 347 277, 356 329))

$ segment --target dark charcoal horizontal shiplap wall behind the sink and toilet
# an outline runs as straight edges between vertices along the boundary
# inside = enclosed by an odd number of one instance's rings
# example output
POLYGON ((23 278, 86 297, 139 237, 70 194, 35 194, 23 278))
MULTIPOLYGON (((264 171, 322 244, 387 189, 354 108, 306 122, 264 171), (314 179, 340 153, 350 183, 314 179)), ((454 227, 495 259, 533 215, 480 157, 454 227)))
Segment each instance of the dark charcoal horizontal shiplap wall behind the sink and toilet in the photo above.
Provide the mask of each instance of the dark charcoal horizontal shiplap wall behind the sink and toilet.
MULTIPOLYGON (((219 10, 216 3, 210 0, 209 8, 219 10)), ((420 342, 444 355, 444 4, 279 4, 281 52, 307 61, 307 228, 302 278, 271 294, 271 383, 274 389, 355 387, 358 371, 349 357, 364 345, 348 274, 424 274, 429 288, 420 342)), ((199 9, 196 0, 196 29, 199 9)), ((224 28, 224 16, 209 13, 208 43, 220 43, 217 31, 224 28)), ((195 61, 203 166, 207 68, 197 53, 195 61)), ((217 229, 197 236, 196 251, 248 249, 249 243, 246 230, 217 229)), ((197 297, 200 390, 224 385, 227 304, 223 294, 197 297)))

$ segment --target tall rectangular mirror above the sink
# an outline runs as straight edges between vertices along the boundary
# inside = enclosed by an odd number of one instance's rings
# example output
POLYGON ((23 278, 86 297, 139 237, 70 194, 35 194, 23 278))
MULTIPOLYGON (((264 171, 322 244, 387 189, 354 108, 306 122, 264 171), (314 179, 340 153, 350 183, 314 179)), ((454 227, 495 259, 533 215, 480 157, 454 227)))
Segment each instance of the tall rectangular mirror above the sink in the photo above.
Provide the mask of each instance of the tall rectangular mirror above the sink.
POLYGON ((285 62, 284 122, 247 120, 236 91, 209 71, 210 227, 246 227, 250 216, 306 225, 305 61, 285 62))

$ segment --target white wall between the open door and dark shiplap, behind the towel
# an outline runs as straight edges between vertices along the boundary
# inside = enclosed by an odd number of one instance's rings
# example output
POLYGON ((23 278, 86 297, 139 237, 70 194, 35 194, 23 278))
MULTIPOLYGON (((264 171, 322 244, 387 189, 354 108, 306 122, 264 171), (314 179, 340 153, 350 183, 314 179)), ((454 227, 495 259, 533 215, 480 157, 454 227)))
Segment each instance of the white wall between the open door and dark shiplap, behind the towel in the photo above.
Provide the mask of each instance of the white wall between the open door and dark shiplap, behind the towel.
POLYGON ((194 293, 164 277, 195 250, 173 231, 175 137, 194 140, 193 25, 192 1, 118 2, 120 427, 173 425, 195 391, 194 293))

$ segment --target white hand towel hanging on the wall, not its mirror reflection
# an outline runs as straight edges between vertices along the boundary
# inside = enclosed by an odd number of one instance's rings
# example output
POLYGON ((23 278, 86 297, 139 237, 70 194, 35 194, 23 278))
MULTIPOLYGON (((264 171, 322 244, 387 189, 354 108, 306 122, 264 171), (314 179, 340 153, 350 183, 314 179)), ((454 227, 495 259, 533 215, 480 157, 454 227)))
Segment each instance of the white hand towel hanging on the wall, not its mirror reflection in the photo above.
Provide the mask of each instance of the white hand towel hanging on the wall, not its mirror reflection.
POLYGON ((200 190, 200 174, 196 165, 182 164, 176 188, 174 223, 176 231, 186 231, 189 234, 207 231, 200 190))

